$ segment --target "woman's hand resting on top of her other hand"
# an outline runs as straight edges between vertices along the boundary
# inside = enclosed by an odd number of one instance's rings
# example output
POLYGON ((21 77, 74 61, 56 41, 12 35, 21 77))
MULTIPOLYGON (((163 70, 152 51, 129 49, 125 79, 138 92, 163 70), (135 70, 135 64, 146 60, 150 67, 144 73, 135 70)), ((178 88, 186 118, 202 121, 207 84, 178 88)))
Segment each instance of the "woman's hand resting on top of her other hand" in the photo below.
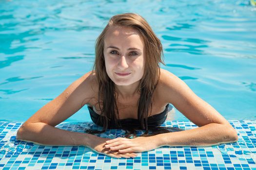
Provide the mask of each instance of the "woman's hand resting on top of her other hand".
POLYGON ((112 151, 119 150, 119 153, 144 152, 158 148, 156 136, 136 137, 133 139, 118 137, 108 140, 106 143, 106 148, 110 148, 112 151))

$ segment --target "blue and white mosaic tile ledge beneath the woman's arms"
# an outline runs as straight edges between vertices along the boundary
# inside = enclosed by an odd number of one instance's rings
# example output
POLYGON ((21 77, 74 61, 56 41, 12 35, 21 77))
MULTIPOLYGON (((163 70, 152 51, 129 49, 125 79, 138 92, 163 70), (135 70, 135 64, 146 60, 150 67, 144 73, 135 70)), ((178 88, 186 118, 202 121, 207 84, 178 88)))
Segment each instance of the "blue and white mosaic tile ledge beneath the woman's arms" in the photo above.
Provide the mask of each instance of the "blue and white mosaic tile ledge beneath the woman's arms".
MULTIPOLYGON (((113 158, 84 146, 42 146, 16 140, 20 122, 0 121, 0 170, 256 170, 256 120, 229 121, 238 141, 211 147, 163 146, 138 153, 136 158, 113 158)), ((102 130, 93 122, 61 123, 57 126, 74 132, 102 130)), ((197 126, 187 121, 166 121, 161 127, 184 130, 197 126)), ((145 131, 136 131, 139 136, 145 131)), ((123 137, 122 129, 95 134, 123 137)))

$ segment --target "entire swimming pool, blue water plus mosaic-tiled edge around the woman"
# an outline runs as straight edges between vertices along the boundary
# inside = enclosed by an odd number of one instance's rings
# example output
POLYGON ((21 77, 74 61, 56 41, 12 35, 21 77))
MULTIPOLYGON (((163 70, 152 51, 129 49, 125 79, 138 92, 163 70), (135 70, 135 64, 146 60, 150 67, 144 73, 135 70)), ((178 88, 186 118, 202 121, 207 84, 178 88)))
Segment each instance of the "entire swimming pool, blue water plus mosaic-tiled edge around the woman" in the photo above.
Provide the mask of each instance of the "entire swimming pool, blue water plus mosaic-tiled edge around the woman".
MULTIPOLYGON (((1 0, 0 169, 101 169, 102 163, 112 164, 111 169, 124 164, 126 169, 256 169, 255 51, 256 7, 249 0, 1 0), (117 163, 86 147, 15 140, 20 122, 91 70, 96 38, 109 17, 124 12, 138 13, 149 22, 163 44, 166 66, 161 68, 176 74, 228 119, 238 142, 162 147, 117 163)), ((165 125, 195 128, 177 110, 175 120, 165 125)), ((91 122, 86 107, 66 120, 80 121, 59 128, 82 130, 84 122, 91 122)))

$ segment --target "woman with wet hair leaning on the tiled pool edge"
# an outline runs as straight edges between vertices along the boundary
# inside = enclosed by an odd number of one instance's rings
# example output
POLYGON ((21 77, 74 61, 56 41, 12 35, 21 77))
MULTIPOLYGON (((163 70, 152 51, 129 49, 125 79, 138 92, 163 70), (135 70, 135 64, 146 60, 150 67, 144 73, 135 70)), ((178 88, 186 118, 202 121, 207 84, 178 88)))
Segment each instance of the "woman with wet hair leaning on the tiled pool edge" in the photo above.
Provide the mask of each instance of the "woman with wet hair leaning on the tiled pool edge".
POLYGON ((94 70, 24 122, 17 139, 43 145, 85 145, 116 158, 135 157, 136 152, 165 145, 210 146, 237 141, 236 131, 226 119, 177 76, 159 68, 161 56, 162 45, 143 17, 126 13, 110 18, 96 42, 94 70), (198 128, 112 140, 55 128, 87 104, 91 117, 104 130, 134 122, 147 130, 166 119, 168 103, 198 128))

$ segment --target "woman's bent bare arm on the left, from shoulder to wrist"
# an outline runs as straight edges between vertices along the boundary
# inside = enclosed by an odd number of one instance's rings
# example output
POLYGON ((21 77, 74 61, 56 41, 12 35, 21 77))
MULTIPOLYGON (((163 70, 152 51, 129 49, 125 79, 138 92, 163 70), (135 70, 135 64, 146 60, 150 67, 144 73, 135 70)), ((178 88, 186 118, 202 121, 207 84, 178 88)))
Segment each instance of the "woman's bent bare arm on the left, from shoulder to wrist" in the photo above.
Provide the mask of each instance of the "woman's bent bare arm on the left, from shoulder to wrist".
POLYGON ((91 72, 83 75, 56 99, 40 108, 21 125, 16 138, 44 145, 87 145, 93 135, 65 131, 55 126, 88 102, 89 98, 85 100, 84 98, 91 96, 90 76, 91 72))

